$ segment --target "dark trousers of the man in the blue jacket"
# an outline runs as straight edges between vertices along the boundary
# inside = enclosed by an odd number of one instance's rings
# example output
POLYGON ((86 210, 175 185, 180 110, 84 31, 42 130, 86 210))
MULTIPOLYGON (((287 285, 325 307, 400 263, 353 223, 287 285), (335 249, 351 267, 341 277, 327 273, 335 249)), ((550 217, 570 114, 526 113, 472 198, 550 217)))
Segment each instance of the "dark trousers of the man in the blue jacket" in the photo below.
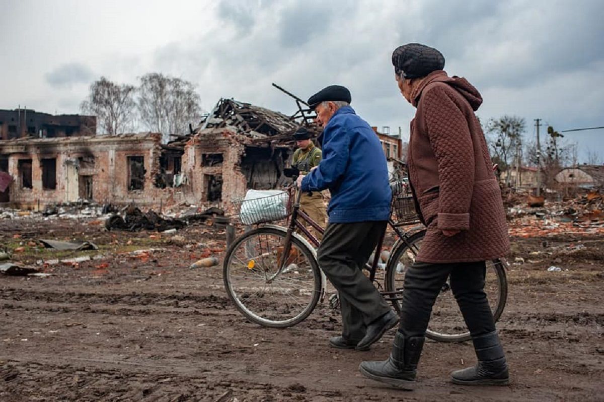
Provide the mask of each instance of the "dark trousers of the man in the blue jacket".
POLYGON ((360 340, 367 324, 390 310, 361 271, 385 229, 385 221, 330 223, 317 251, 319 266, 338 290, 347 339, 360 340))

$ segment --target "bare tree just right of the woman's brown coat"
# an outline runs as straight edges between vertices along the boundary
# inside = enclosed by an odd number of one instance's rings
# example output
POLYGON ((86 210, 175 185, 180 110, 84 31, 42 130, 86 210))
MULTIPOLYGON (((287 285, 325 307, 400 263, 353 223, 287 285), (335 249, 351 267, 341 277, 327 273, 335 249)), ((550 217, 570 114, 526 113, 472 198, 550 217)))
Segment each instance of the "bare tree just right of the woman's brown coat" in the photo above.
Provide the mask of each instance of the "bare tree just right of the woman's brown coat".
POLYGON ((486 125, 493 161, 499 164, 501 170, 507 170, 507 183, 510 181, 511 165, 518 165, 522 160, 522 133, 525 126, 524 118, 509 115, 490 118, 486 125))

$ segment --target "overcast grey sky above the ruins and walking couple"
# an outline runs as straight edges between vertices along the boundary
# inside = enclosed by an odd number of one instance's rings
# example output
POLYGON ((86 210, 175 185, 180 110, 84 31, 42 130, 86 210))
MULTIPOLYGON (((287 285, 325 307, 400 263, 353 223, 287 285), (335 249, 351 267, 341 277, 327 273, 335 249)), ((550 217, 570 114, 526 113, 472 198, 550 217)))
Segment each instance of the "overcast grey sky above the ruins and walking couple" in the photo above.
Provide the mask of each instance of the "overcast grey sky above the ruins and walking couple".
MULTIPOLYGON (((481 120, 518 115, 564 129, 604 126, 604 2, 0 0, 0 109, 79 112, 100 76, 161 72, 197 85, 202 107, 233 97, 291 114, 338 83, 373 126, 401 128, 414 109, 394 83, 394 48, 438 48, 449 75, 483 94, 481 120)), ((542 137, 544 138, 544 137, 542 137)), ((568 133, 604 163, 604 130, 568 133)))

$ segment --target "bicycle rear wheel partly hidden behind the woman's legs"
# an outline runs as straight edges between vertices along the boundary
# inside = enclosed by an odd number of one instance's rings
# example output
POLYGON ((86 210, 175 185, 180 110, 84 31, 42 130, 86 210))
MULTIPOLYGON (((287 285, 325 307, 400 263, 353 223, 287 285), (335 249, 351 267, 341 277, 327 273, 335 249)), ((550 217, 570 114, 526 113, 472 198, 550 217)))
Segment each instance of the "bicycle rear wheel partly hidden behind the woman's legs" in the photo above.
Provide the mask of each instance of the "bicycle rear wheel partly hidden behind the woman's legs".
MULTIPOLYGON (((403 290, 405 282, 405 271, 415 262, 415 257, 422 244, 426 231, 422 230, 410 236, 408 244, 400 241, 394 246, 391 258, 386 268, 385 288, 387 292, 397 292, 396 297, 391 298, 394 309, 400 313, 400 291, 403 290)), ((484 281, 484 292, 493 319, 500 319, 506 306, 507 300, 507 278, 504 262, 500 259, 486 262, 486 277, 484 281)), ((445 282, 437 296, 432 308, 432 315, 426 329, 426 336, 439 342, 464 342, 471 339, 467 330, 461 311, 455 301, 449 279, 445 282)))

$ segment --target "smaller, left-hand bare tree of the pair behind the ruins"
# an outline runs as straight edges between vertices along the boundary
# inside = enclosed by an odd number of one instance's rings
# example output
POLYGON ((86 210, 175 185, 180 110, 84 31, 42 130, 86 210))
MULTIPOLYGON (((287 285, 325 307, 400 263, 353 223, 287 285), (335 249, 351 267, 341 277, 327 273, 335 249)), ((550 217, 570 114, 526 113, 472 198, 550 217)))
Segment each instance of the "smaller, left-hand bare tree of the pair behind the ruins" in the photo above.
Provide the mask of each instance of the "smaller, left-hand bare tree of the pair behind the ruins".
POLYGON ((133 129, 133 99, 135 87, 117 84, 105 77, 90 86, 88 99, 80 105, 83 113, 97 116, 98 126, 103 134, 120 134, 133 129))

